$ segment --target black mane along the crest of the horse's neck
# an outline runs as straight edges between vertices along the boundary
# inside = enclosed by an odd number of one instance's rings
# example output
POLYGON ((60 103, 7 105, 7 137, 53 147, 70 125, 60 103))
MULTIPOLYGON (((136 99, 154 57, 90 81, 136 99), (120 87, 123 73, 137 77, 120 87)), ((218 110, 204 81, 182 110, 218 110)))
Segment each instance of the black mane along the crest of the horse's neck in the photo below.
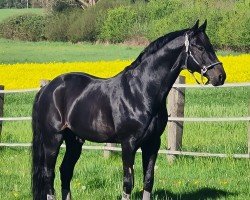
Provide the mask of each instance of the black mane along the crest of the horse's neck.
POLYGON ((153 53, 155 53, 156 51, 158 51, 159 49, 161 49, 166 43, 168 43, 169 41, 175 39, 176 37, 183 35, 186 31, 188 31, 189 29, 184 29, 184 30, 180 30, 180 31, 174 31, 171 33, 168 33, 164 36, 159 37, 158 39, 156 39, 155 41, 151 42, 141 53, 140 55, 129 65, 125 68, 125 71, 129 70, 129 69, 134 69, 135 67, 137 67, 142 60, 146 57, 149 56, 153 53))

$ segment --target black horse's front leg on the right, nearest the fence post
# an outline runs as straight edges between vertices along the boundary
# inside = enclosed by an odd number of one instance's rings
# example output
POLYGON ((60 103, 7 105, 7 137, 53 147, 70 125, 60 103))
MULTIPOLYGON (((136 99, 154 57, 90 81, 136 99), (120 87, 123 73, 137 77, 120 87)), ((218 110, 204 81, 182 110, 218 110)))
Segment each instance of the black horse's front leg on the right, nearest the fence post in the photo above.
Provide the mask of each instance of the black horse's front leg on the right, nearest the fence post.
POLYGON ((143 200, 150 200, 154 184, 154 167, 158 150, 160 148, 160 143, 160 137, 151 138, 146 141, 141 147, 144 175, 143 200))

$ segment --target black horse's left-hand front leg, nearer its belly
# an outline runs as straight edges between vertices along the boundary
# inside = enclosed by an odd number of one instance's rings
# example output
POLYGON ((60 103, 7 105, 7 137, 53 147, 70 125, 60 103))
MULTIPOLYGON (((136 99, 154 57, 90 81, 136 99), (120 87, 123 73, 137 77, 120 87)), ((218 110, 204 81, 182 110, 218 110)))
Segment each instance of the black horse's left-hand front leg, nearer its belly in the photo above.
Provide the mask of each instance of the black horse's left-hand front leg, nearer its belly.
POLYGON ((122 144, 123 162, 123 194, 122 200, 130 200, 134 187, 134 161, 136 150, 131 148, 131 144, 122 144))

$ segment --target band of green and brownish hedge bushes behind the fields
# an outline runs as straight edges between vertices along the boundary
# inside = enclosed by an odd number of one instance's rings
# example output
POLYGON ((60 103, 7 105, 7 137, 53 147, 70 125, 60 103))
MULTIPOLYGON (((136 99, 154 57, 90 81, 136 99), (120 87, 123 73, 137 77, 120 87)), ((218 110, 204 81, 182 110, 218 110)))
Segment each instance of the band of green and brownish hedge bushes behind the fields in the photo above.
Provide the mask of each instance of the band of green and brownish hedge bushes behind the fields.
POLYGON ((101 40, 117 43, 140 37, 152 41, 168 32, 190 27, 197 19, 207 19, 208 35, 217 48, 242 51, 250 49, 249 1, 151 0, 149 3, 137 4, 129 2, 102 0, 84 11, 66 10, 44 17, 33 15, 31 19, 27 16, 15 16, 0 25, 0 34, 6 38, 33 41, 101 40), (21 29, 21 25, 15 21, 20 21, 22 27, 26 28, 21 29), (27 26, 34 29, 30 31, 27 26), (23 33, 19 34, 16 30, 22 30, 23 33), (25 31, 29 36, 21 36, 25 35, 25 31))

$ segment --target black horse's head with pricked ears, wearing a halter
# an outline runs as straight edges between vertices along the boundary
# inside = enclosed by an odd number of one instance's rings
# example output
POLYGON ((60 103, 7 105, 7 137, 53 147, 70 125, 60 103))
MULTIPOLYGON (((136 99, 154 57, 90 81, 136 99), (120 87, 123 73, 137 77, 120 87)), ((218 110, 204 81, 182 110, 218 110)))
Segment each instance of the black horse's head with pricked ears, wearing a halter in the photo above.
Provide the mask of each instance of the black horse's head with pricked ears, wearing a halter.
POLYGON ((200 73, 202 79, 203 76, 206 77, 207 83, 211 83, 213 86, 223 85, 226 73, 205 32, 207 20, 200 27, 198 24, 199 21, 185 35, 187 53, 185 67, 191 73, 200 73))

